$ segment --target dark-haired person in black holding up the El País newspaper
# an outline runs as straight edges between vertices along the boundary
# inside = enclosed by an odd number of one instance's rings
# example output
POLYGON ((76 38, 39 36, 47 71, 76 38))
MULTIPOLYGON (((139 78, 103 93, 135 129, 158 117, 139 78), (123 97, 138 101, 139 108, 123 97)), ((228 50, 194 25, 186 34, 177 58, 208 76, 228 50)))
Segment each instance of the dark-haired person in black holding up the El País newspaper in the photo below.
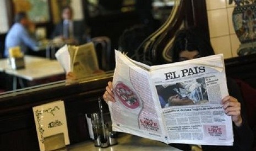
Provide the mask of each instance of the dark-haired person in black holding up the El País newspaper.
MULTIPOLYGON (((214 55, 214 50, 206 38, 201 38, 199 32, 192 29, 184 29, 176 34, 172 47, 173 62, 196 59, 203 56, 214 55)), ((252 150, 253 135, 246 121, 246 111, 244 110, 243 98, 241 92, 232 79, 227 78, 228 92, 230 95, 222 98, 222 107, 227 115, 232 117, 234 142, 233 146, 199 146, 199 150, 252 150)), ((177 94, 168 96, 174 102, 183 101, 177 94), (176 97, 173 97, 176 96, 176 97)), ((106 102, 116 102, 113 94, 112 82, 108 82, 106 91, 103 95, 106 102)), ((188 101, 188 99, 187 99, 188 101)), ((191 103, 191 101, 188 101, 191 103)), ((182 103, 180 103, 182 104, 182 103)), ((182 150, 191 150, 189 144, 170 144, 182 150)))

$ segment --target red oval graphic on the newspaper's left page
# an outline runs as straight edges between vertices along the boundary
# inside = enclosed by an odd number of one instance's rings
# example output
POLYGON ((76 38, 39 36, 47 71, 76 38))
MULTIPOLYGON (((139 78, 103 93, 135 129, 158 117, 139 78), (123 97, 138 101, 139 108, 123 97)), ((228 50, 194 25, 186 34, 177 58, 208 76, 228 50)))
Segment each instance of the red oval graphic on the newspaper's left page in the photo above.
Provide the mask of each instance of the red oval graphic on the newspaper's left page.
POLYGON ((127 85, 118 83, 115 87, 115 94, 124 106, 130 109, 139 107, 139 99, 137 95, 127 85))

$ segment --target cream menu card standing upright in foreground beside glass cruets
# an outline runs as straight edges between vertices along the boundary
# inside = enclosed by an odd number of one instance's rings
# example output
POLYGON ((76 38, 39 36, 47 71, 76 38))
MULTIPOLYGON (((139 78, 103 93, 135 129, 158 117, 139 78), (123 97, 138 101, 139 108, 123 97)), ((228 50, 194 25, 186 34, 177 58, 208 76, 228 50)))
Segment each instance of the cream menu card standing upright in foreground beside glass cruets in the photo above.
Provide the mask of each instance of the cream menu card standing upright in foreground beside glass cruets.
POLYGON ((35 106, 33 107, 33 112, 41 151, 51 150, 50 148, 58 149, 69 144, 68 127, 63 101, 55 101, 35 106), (56 139, 56 136, 59 136, 59 138, 56 139))

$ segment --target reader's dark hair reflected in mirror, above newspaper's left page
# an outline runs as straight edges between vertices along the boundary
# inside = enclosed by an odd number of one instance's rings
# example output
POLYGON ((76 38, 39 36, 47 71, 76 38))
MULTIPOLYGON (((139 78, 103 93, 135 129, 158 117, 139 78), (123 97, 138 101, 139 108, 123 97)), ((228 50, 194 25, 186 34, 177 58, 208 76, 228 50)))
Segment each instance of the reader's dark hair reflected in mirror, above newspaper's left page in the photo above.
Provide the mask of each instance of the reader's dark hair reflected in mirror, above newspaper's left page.
POLYGON ((119 51, 132 57, 139 45, 150 35, 150 29, 145 25, 134 25, 123 31, 119 37, 119 51))

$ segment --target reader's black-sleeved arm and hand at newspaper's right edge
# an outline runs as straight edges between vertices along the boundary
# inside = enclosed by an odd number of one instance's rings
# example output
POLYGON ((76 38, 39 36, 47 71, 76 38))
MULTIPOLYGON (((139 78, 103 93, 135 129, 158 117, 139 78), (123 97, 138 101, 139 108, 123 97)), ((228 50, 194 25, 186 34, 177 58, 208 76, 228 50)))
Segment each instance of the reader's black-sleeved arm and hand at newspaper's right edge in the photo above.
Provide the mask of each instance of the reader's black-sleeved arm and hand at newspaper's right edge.
POLYGON ((232 116, 234 142, 233 146, 202 146, 203 150, 252 150, 253 133, 247 124, 241 91, 232 79, 227 79, 228 92, 222 100, 224 111, 232 116))

